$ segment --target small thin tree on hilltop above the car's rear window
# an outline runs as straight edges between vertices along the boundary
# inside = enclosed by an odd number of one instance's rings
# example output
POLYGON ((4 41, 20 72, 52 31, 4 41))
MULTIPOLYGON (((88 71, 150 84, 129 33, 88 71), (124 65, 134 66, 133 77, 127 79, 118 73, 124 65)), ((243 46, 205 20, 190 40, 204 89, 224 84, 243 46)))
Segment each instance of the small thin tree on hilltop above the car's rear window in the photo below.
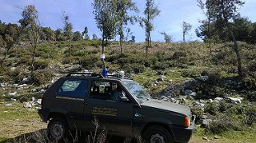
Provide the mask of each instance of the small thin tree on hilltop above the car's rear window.
POLYGON ((65 14, 65 11, 62 11, 62 13, 63 13, 63 23, 64 23, 63 32, 64 32, 64 36, 66 37, 66 40, 69 43, 69 53, 71 57, 71 40, 72 40, 73 26, 70 22, 70 17, 67 14, 65 14))

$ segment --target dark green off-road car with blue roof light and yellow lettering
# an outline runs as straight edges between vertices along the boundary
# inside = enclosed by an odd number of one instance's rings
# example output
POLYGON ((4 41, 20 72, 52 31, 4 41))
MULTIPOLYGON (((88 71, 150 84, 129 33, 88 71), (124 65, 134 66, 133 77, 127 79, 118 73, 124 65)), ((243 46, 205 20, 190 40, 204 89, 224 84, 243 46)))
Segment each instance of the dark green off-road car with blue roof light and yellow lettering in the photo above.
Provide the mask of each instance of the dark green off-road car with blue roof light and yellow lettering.
POLYGON ((38 109, 42 121, 50 121, 48 136, 54 140, 70 131, 98 129, 122 137, 141 136, 146 142, 187 142, 194 130, 190 108, 150 97, 129 79, 103 77, 97 73, 69 73, 42 97, 38 109))

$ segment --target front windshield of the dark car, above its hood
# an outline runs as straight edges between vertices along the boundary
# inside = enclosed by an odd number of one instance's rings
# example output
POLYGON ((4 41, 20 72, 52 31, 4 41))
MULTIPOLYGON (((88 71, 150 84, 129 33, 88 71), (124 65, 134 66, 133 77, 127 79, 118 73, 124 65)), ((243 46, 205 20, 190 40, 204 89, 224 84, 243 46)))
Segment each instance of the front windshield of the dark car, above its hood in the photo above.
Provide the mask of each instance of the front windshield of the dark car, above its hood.
POLYGON ((147 93, 140 85, 135 81, 122 81, 122 84, 126 86, 126 89, 137 98, 147 99, 150 98, 150 94, 147 93))

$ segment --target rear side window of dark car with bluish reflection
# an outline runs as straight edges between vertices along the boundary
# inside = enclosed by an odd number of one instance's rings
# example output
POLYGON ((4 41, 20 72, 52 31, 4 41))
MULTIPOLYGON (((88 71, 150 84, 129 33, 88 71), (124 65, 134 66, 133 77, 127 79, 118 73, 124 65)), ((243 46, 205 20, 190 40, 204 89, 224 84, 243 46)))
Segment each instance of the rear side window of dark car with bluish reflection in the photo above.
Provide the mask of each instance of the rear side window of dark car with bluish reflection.
POLYGON ((88 83, 86 80, 69 79, 64 81, 59 87, 57 94, 68 97, 86 97, 87 85, 88 83))

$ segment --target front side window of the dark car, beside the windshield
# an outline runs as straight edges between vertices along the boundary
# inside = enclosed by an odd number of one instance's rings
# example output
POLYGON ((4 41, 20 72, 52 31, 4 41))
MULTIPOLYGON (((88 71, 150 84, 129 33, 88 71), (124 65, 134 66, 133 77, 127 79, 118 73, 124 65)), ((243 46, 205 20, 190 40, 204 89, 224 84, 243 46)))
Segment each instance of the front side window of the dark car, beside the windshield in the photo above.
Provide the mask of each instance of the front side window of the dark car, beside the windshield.
POLYGON ((90 88, 90 97, 102 100, 121 101, 125 96, 122 88, 114 81, 93 81, 90 88))

